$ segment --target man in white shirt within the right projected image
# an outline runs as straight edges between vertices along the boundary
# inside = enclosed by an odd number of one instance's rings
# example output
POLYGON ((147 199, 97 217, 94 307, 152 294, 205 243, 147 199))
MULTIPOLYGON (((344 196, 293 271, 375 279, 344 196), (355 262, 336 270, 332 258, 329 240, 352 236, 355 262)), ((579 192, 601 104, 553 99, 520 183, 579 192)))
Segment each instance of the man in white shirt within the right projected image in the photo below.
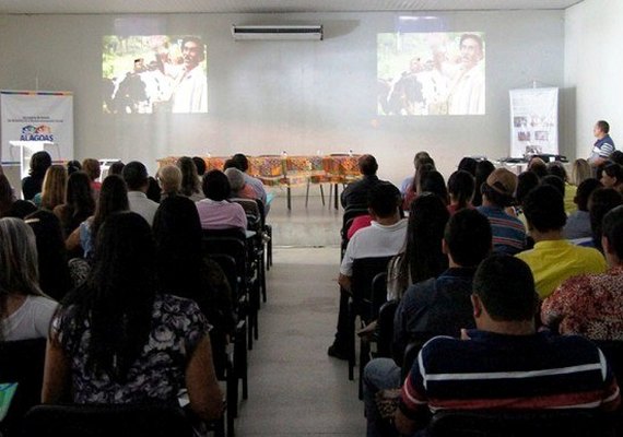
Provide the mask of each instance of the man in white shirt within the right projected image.
POLYGON ((484 114, 484 43, 479 35, 460 38, 460 66, 448 96, 448 114, 484 114))

